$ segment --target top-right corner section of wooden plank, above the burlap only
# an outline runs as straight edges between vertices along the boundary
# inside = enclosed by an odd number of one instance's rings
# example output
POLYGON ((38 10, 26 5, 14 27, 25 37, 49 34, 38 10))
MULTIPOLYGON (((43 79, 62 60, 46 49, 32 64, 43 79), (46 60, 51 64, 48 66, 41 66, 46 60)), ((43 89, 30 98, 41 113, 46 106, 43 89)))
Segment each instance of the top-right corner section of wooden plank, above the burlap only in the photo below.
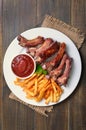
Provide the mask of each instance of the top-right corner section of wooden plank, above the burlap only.
POLYGON ((71 24, 86 33, 86 0, 71 1, 71 24))

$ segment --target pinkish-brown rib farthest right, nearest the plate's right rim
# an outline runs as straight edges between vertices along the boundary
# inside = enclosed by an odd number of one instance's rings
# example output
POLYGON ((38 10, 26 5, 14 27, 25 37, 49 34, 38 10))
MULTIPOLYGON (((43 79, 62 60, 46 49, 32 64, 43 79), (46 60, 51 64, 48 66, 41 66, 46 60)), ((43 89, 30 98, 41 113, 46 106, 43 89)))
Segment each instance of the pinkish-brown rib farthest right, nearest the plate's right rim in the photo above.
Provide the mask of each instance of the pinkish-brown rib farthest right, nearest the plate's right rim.
POLYGON ((70 70, 71 70, 71 62, 72 62, 72 58, 66 59, 65 70, 64 70, 62 76, 57 78, 57 83, 59 85, 66 85, 68 78, 69 78, 70 70))

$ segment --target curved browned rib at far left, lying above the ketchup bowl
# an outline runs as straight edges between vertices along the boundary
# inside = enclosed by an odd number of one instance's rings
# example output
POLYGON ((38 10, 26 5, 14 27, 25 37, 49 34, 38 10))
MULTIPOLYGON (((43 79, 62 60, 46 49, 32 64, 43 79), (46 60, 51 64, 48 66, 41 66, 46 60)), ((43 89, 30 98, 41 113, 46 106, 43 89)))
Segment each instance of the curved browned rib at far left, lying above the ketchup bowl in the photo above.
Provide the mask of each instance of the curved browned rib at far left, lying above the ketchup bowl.
POLYGON ((44 42, 44 37, 38 36, 32 40, 27 40, 23 36, 19 35, 17 40, 19 41, 19 45, 23 47, 34 47, 44 42))

